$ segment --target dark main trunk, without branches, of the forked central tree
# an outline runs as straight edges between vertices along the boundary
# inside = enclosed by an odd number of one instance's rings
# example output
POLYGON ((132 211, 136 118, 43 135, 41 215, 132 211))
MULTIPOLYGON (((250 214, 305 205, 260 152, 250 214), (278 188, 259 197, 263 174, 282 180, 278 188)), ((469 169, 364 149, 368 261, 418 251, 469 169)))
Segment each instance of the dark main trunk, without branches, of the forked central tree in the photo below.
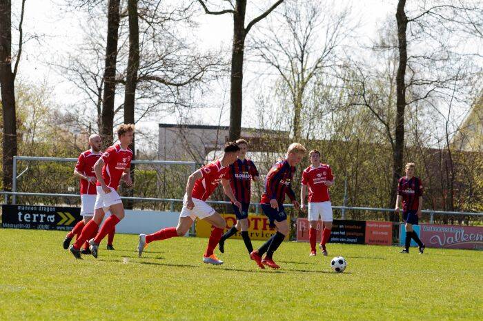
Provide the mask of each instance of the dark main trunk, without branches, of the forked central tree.
POLYGON ((231 52, 230 132, 228 134, 230 141, 236 141, 242 132, 245 10, 246 0, 237 0, 233 14, 233 48, 231 52))

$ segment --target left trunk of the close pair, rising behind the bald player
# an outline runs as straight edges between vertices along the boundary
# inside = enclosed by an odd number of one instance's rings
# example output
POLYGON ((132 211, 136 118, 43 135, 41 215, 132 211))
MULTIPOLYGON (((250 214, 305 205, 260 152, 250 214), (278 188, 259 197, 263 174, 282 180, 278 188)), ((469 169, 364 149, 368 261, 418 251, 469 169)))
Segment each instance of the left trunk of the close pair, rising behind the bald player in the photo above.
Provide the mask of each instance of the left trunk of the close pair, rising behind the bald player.
POLYGON ((112 145, 114 139, 114 99, 116 93, 117 39, 119 32, 119 1, 109 0, 108 37, 106 42, 106 67, 104 69, 104 93, 102 101, 101 137, 104 146, 112 145))

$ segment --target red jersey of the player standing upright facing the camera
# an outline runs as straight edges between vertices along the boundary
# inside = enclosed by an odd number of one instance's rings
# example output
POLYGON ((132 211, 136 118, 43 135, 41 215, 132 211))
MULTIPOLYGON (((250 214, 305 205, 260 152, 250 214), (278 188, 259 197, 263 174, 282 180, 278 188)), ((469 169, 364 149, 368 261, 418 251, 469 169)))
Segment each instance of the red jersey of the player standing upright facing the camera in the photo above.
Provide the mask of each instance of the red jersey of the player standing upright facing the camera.
POLYGON ((333 180, 332 169, 326 164, 320 164, 315 168, 312 166, 304 169, 302 173, 302 185, 308 186, 308 203, 327 202, 331 200, 328 195, 326 180, 333 180))

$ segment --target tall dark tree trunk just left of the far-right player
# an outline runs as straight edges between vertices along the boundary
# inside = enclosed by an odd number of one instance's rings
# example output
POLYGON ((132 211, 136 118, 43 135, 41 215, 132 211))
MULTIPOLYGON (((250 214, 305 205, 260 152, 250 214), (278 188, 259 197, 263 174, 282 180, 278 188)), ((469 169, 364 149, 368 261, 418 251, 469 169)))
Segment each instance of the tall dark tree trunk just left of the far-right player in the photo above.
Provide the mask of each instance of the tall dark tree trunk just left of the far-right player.
MULTIPOLYGON (((408 62, 406 28, 408 17, 404 12, 406 0, 397 3, 397 41, 399 47, 399 66, 396 75, 396 119, 395 119, 395 145, 393 150, 393 184, 391 186, 391 206, 395 204, 397 194, 397 181, 402 173, 402 161, 404 157, 404 110, 406 109, 406 64, 408 62)), ((395 215, 393 221, 398 220, 395 215)))

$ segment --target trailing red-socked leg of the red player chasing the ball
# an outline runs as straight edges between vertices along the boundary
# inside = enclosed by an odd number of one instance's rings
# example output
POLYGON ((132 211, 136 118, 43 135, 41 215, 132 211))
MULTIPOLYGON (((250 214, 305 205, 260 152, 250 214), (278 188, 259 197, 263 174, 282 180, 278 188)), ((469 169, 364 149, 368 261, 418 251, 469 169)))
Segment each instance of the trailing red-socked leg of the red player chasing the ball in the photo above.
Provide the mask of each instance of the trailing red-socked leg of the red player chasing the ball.
MULTIPOLYGON (((195 204, 196 207, 196 204, 195 204)), ((155 240, 166 240, 168 238, 174 238, 177 236, 184 236, 190 229, 193 222, 195 222, 196 215, 193 214, 193 210, 186 207, 186 195, 184 197, 184 206, 179 214, 178 226, 177 227, 166 227, 165 229, 160 229, 153 234, 139 234, 139 244, 137 245, 137 255, 141 258, 144 249, 148 246, 150 242, 155 240)))

